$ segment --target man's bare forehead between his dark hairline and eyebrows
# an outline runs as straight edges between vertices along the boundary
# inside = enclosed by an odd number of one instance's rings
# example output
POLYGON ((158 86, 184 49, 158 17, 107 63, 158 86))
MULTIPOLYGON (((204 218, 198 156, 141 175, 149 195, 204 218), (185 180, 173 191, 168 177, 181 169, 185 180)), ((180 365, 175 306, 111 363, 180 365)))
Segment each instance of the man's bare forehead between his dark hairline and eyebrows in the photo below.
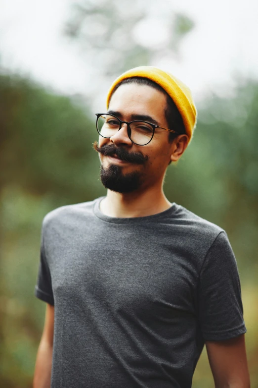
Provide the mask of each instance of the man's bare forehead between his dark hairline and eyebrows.
POLYGON ((114 92, 109 103, 109 110, 119 111, 124 116, 132 113, 148 114, 164 120, 164 110, 167 106, 166 96, 147 85, 135 83, 123 84, 114 92))

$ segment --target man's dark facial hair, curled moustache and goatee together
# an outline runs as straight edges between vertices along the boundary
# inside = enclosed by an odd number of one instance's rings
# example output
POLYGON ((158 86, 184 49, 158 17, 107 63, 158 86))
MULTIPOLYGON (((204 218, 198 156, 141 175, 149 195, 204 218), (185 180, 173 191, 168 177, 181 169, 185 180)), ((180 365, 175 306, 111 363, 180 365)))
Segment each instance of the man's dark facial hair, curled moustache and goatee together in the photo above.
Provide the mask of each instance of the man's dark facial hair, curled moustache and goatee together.
MULTIPOLYGON (((141 152, 129 152, 124 147, 117 147, 114 144, 98 147, 97 142, 94 142, 93 148, 98 153, 105 156, 117 155, 121 160, 144 165, 148 156, 141 152)), ((140 188, 142 179, 141 173, 138 171, 123 174, 122 167, 110 165, 108 168, 100 167, 100 179, 106 189, 116 191, 117 193, 131 193, 140 188)))

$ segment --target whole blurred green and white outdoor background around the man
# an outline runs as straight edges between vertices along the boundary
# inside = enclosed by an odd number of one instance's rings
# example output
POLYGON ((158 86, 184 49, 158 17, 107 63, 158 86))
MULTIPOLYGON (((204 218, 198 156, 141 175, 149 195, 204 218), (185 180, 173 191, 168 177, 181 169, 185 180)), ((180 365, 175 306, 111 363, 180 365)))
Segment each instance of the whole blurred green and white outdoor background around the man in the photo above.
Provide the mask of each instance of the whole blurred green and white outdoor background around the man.
MULTIPOLYGON (((258 3, 0 0, 0 9, 0 387, 32 387, 43 217, 105 195, 94 113, 113 79, 142 64, 193 90, 197 129, 165 191, 227 231, 258 387, 258 3)), ((214 387, 205 350, 193 387, 214 387)))

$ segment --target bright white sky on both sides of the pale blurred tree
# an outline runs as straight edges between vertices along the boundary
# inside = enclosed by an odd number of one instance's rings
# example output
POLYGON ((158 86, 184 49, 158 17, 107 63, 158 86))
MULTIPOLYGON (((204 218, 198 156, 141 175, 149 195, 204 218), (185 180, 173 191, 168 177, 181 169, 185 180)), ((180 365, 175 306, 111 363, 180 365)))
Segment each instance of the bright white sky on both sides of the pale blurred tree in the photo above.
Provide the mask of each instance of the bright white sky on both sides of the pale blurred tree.
MULTIPOLYGON (((78 47, 62 33, 73 2, 0 0, 1 65, 64 93, 90 90, 94 75, 78 47)), ((236 74, 258 78, 257 0, 169 2, 175 11, 192 18, 195 28, 182 41, 179 59, 154 65, 170 70, 197 98, 207 90, 219 93, 221 85, 226 85, 224 92, 227 86, 230 89, 236 74)))

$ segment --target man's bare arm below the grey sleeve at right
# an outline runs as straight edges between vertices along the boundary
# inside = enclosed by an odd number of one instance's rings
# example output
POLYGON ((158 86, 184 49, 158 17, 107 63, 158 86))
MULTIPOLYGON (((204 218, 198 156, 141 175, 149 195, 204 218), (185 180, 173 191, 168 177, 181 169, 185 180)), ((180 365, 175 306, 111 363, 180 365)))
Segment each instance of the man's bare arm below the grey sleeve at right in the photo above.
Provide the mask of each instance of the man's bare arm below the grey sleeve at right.
POLYGON ((250 388, 245 336, 207 341, 207 353, 215 388, 250 388))

